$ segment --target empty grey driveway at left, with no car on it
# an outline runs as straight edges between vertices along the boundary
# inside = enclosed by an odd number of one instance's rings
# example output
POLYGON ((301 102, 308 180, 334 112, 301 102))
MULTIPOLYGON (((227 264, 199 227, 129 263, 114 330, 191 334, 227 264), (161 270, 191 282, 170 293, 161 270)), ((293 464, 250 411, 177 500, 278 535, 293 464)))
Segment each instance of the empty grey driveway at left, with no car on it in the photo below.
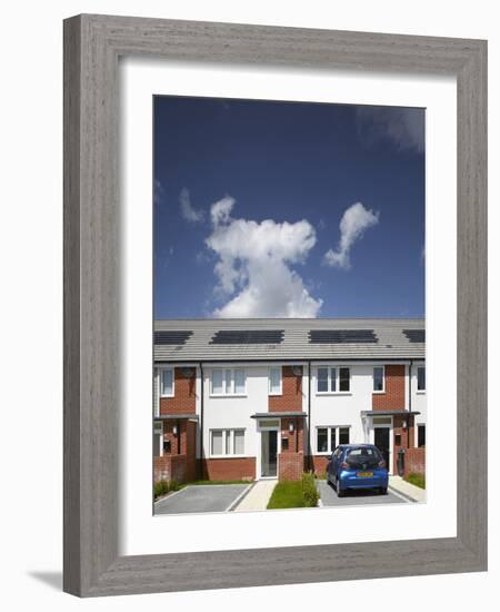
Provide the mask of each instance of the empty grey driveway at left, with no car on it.
POLYGON ((154 514, 228 512, 251 484, 188 485, 154 503, 154 514))

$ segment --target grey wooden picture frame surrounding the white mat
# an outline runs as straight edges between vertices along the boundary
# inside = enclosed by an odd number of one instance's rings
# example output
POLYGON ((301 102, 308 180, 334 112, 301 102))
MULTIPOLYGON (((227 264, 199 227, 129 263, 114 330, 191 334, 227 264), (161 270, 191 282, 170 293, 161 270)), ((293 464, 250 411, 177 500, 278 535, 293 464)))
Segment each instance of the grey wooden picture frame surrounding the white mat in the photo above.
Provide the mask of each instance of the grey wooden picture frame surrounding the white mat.
POLYGON ((487 569, 487 42, 81 14, 64 21, 64 561, 80 596, 487 569), (452 75, 458 103, 456 537, 120 556, 118 60, 452 75), (373 560, 377 560, 374 563, 373 560))

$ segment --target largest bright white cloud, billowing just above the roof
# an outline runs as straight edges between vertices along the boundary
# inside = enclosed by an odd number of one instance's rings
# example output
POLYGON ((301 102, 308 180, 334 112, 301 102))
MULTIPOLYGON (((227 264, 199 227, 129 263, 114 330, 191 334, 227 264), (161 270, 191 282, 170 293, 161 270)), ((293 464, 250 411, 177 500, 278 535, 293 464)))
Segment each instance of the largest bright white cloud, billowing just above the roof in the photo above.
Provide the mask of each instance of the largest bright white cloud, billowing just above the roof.
POLYGON ((212 233, 207 246, 218 256, 216 295, 227 300, 212 314, 222 318, 316 317, 322 300, 311 297, 291 268, 306 260, 316 245, 307 220, 234 219, 234 199, 211 207, 212 233))

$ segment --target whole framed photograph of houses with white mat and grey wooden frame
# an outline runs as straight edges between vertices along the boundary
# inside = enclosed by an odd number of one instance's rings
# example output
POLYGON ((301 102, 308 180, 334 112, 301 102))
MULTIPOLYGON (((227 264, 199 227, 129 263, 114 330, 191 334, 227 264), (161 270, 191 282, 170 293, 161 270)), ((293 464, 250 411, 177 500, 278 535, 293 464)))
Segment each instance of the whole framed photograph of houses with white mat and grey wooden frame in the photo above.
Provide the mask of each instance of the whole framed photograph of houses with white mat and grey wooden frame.
POLYGON ((486 41, 66 20, 64 590, 484 571, 486 205, 486 41))

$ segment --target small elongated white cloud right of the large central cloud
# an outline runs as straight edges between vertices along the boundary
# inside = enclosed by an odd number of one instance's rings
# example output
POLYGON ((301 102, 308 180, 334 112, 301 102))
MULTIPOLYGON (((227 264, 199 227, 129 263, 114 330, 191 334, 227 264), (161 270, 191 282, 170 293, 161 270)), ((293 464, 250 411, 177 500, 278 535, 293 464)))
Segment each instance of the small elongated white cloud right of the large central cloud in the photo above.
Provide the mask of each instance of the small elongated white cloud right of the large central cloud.
POLYGON ((350 206, 340 220, 340 240, 337 250, 327 250, 323 263, 327 266, 349 269, 352 245, 362 237, 368 228, 378 223, 379 213, 368 210, 360 201, 350 206))

